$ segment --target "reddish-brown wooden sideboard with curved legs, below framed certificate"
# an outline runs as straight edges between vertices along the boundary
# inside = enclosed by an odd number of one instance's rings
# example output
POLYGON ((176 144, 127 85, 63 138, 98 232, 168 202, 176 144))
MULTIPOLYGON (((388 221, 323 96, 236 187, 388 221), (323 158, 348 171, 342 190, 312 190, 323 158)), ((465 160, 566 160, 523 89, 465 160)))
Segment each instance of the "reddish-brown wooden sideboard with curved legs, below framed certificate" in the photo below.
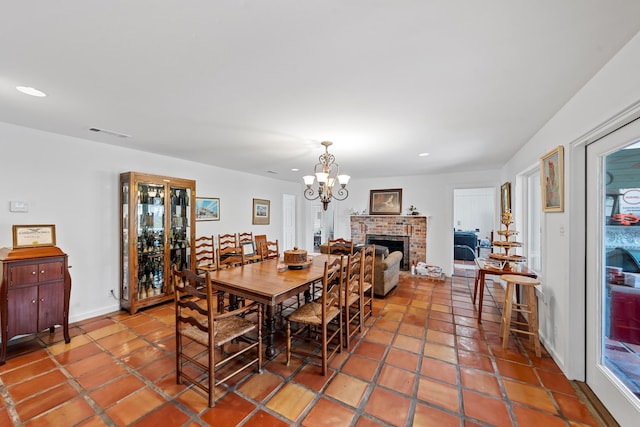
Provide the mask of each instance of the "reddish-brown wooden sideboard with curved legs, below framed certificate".
POLYGON ((0 365, 7 359, 7 344, 18 335, 38 333, 56 325, 69 337, 71 276, 67 254, 60 248, 0 249, 0 365))

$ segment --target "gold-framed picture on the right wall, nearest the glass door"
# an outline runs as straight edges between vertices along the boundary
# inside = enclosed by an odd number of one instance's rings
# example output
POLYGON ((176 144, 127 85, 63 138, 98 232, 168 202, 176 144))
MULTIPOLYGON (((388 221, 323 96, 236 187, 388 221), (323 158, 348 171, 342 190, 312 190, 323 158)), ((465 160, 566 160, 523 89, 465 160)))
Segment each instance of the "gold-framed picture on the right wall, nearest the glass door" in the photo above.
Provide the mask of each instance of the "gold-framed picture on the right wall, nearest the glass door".
POLYGON ((564 212, 564 147, 559 145, 540 159, 542 210, 564 212))

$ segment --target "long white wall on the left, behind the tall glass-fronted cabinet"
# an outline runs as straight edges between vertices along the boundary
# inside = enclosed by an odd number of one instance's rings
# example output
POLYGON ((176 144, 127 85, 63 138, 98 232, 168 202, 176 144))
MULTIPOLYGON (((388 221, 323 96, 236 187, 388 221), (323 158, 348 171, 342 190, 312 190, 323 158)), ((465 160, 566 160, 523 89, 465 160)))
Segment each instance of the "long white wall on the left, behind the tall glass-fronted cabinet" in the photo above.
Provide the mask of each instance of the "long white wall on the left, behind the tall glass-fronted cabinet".
MULTIPOLYGON (((14 224, 55 224, 57 246, 72 266, 70 321, 118 310, 119 174, 146 172, 196 180, 196 194, 220 197, 220 221, 196 223, 196 235, 253 231, 282 239, 282 194, 298 184, 209 167, 0 122, 0 247, 14 224), (271 201, 270 225, 251 225, 252 199, 271 201), (9 212, 9 201, 29 204, 9 212)), ((132 145, 135 142, 132 142, 132 145)))

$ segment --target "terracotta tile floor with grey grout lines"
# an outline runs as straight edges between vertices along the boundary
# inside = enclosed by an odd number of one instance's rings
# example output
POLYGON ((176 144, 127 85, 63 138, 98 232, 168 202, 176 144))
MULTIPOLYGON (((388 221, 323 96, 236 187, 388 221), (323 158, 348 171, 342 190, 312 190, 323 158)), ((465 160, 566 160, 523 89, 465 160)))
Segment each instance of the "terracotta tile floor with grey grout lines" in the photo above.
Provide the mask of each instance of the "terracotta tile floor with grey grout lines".
POLYGON ((478 325, 472 274, 402 273, 329 375, 278 354, 220 387, 211 409, 176 384, 172 304, 76 323, 70 344, 27 337, 0 367, 0 426, 597 426, 544 350, 513 336, 502 349, 490 282, 478 325))

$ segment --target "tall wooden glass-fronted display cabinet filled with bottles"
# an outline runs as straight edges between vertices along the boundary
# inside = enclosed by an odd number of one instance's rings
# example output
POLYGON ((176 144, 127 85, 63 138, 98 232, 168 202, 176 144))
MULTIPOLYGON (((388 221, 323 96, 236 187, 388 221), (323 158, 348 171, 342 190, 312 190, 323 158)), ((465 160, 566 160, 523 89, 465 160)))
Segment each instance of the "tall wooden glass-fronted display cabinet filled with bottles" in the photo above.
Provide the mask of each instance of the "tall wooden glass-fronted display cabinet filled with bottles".
POLYGON ((120 307, 134 314, 172 299, 171 269, 195 259, 196 182, 125 172, 120 190, 120 307))

